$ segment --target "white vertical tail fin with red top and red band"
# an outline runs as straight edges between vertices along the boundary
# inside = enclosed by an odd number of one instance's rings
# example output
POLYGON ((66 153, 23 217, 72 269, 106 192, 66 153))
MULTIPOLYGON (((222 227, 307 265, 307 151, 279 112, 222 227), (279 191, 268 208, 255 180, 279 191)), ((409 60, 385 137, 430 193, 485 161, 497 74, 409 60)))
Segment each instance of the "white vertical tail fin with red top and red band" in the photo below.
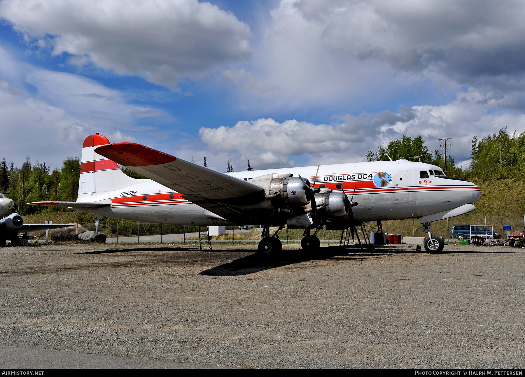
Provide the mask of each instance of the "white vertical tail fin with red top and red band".
POLYGON ((119 190, 140 181, 124 174, 116 162, 95 153, 95 148, 108 144, 108 138, 99 133, 84 140, 77 202, 91 202, 93 194, 119 190))

